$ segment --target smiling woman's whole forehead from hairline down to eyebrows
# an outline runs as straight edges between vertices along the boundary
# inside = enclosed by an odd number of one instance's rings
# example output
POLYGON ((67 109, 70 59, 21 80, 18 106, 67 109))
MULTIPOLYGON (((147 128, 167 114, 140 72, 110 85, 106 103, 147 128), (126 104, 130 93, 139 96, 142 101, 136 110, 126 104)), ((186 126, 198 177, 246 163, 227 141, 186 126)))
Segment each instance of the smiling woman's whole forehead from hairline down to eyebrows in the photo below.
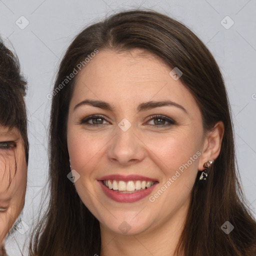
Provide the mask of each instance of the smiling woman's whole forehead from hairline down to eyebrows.
POLYGON ((70 105, 84 98, 101 99, 119 109, 148 100, 172 100, 185 108, 197 106, 181 80, 174 80, 162 59, 140 49, 99 51, 78 73, 70 105))

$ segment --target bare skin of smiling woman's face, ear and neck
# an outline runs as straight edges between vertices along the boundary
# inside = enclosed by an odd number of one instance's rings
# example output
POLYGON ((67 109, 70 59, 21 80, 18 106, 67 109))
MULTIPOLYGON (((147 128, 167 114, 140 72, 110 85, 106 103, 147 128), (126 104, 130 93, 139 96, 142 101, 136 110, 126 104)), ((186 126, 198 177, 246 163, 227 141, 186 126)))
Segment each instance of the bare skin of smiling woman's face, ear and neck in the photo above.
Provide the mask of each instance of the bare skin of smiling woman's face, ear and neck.
POLYGON ((75 182, 77 193, 100 222, 100 255, 172 255, 197 171, 219 154, 223 123, 204 132, 194 98, 179 79, 169 75, 170 70, 140 49, 104 50, 76 77, 67 121, 68 152, 71 169, 80 175, 75 182), (114 110, 91 105, 74 109, 84 99, 106 101, 114 110), (137 112, 140 103, 150 100, 172 100, 187 113, 175 106, 137 112), (104 115, 103 124, 80 123, 91 114, 104 115), (150 118, 153 114, 167 116, 176 124, 160 120, 165 126, 158 127, 150 118), (123 118, 131 123, 125 132, 118 126, 123 118), (154 202, 149 196, 132 203, 113 201, 97 181, 108 174, 143 175, 158 180, 153 195, 196 151, 200 156, 154 202), (131 227, 125 234, 118 228, 123 221, 131 227))

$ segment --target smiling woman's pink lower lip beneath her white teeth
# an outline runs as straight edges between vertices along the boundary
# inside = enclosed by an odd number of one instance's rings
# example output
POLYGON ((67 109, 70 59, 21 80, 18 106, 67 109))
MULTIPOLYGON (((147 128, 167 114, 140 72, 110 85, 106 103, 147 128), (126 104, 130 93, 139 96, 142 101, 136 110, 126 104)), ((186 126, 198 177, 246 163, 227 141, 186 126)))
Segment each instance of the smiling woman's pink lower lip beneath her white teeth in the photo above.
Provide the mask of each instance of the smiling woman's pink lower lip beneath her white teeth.
POLYGON ((136 201, 139 201, 139 200, 145 198, 147 195, 149 195, 152 192, 152 190, 154 189, 157 182, 155 182, 152 186, 150 186, 147 189, 137 191, 137 192, 134 192, 134 193, 116 192, 116 190, 109 189, 108 187, 103 185, 102 180, 99 180, 99 184, 102 187, 102 190, 104 191, 104 193, 114 201, 117 201, 117 202, 136 202, 136 201))

